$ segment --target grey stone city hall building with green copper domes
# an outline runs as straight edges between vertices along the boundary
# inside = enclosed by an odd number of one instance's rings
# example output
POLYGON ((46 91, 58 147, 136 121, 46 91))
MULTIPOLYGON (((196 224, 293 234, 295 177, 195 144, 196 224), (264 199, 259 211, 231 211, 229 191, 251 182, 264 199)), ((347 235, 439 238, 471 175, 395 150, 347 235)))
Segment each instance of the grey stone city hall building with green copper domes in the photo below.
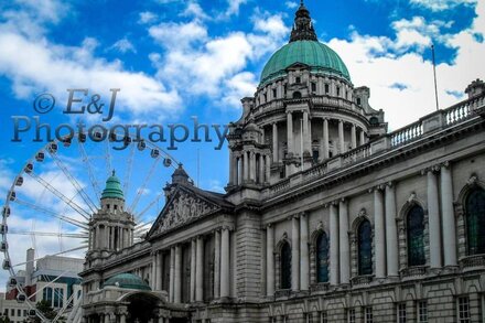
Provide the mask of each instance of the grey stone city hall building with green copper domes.
POLYGON ((485 84, 389 132, 301 4, 227 136, 141 243, 119 180, 89 223, 83 322, 483 322, 485 84))

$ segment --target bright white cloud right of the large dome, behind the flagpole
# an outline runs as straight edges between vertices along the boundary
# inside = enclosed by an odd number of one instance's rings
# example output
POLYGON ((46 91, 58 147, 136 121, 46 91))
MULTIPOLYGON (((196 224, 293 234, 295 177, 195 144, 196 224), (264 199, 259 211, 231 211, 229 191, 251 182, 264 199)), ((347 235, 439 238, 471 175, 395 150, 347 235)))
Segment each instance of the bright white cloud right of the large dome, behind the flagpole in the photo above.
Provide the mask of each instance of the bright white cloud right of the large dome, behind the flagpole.
MULTIPOLYGON (((452 64, 436 66, 441 108, 456 103, 452 93, 463 93, 473 79, 485 75, 485 65, 482 64, 485 43, 474 37, 475 33, 485 30, 485 2, 477 3, 476 14, 473 28, 441 39, 446 41, 446 46, 457 51, 452 64)), ((434 110, 432 64, 423 60, 422 53, 430 51, 429 34, 438 31, 430 29, 421 18, 400 20, 392 25, 397 35, 395 40, 354 32, 349 41, 333 39, 328 45, 346 63, 353 83, 370 87, 371 105, 384 109, 390 128, 397 129, 434 110), (402 33, 403 30, 407 33, 402 33), (407 52, 413 45, 421 46, 421 50, 407 52), (400 53, 392 54, 389 50, 400 53), (396 84, 408 88, 392 87, 396 84)))

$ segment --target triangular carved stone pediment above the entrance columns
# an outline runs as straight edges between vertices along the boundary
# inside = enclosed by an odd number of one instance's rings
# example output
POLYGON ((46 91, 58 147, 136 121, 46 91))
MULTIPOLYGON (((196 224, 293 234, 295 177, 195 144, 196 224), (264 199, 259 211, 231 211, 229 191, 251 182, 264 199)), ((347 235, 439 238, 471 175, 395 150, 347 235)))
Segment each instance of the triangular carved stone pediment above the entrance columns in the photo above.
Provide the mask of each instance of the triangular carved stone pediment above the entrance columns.
POLYGON ((164 233, 219 209, 219 205, 203 196, 179 189, 163 207, 148 236, 164 233))

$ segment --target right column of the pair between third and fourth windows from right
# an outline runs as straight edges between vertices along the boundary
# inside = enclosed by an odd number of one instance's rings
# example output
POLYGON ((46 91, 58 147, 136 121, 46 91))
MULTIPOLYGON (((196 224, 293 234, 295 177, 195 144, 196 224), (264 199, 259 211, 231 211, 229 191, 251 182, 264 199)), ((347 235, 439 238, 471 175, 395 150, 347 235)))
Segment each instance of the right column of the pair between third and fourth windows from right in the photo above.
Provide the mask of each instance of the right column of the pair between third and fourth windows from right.
POLYGON ((348 209, 347 201, 342 198, 338 204, 338 237, 340 237, 340 261, 341 283, 351 282, 351 250, 348 243, 348 209))

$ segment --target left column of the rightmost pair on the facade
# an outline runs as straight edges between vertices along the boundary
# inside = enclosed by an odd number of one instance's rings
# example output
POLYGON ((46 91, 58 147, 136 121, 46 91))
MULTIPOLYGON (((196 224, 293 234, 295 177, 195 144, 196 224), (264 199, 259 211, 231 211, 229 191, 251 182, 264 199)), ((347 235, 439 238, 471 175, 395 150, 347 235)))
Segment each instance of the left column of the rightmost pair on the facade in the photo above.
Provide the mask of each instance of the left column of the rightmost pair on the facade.
POLYGON ((430 235, 430 267, 441 267, 441 233, 438 196, 438 180, 433 170, 427 171, 428 179, 428 222, 430 235))

